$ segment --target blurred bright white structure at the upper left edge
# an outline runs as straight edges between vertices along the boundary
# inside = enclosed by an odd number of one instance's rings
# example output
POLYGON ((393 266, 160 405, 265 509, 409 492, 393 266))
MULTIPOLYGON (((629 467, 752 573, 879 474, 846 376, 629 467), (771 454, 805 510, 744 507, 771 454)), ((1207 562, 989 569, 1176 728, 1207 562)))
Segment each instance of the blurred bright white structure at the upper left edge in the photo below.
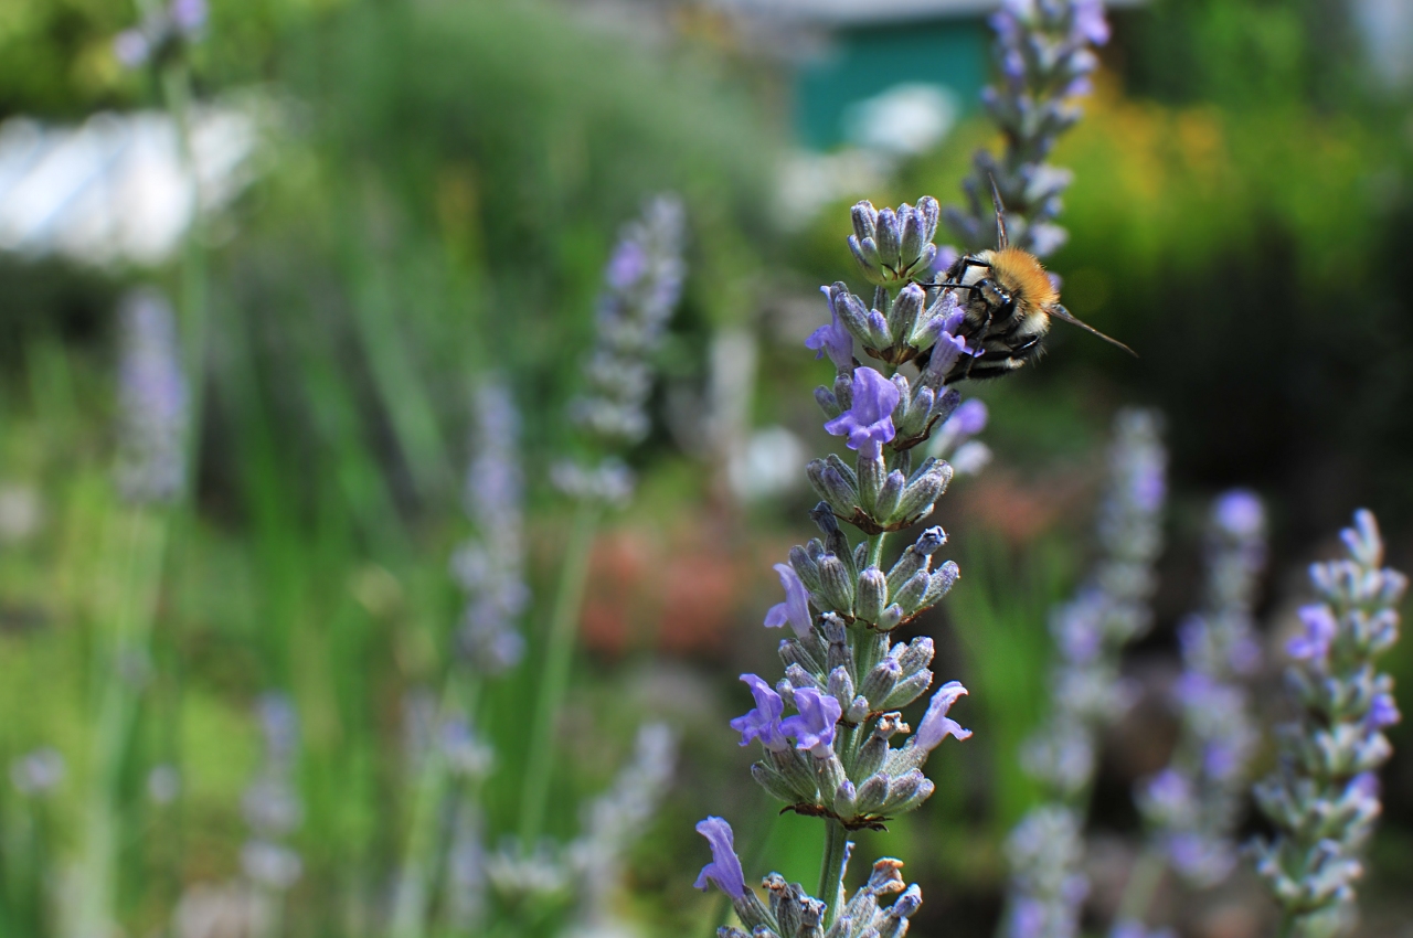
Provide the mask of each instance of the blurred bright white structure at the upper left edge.
POLYGON ((195 174, 160 112, 102 113, 78 127, 4 121, 0 250, 97 266, 161 263, 191 225, 198 192, 211 212, 249 181, 249 114, 198 110, 191 137, 195 174))

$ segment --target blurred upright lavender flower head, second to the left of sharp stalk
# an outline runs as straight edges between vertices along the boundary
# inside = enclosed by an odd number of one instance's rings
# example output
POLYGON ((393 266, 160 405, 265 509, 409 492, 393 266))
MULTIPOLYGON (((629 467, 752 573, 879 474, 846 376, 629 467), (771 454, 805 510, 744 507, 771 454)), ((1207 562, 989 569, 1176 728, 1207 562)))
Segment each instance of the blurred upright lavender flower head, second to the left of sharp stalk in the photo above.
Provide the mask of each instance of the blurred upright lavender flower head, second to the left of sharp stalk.
POLYGON ((517 620, 530 602, 520 415, 500 379, 476 388, 473 410, 463 503, 476 534, 452 557, 452 575, 466 595, 458 644, 473 668, 499 674, 524 654, 517 620))

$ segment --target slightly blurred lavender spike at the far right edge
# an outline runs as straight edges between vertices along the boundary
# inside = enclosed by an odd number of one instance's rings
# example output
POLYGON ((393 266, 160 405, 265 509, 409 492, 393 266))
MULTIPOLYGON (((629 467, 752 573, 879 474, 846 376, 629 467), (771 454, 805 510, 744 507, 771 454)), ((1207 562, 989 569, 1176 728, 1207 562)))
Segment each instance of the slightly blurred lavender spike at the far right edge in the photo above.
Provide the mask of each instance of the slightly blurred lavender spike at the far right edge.
POLYGON ((1371 511, 1356 511, 1341 537, 1348 558, 1310 568, 1320 602, 1300 610, 1304 634, 1287 646, 1297 716, 1280 728, 1277 767, 1255 790, 1276 828, 1252 850, 1280 906, 1282 938, 1330 938, 1352 925, 1354 883, 1382 808, 1376 771, 1392 754, 1383 730, 1400 719, 1393 679, 1375 660, 1397 641, 1407 578, 1383 566, 1371 511))

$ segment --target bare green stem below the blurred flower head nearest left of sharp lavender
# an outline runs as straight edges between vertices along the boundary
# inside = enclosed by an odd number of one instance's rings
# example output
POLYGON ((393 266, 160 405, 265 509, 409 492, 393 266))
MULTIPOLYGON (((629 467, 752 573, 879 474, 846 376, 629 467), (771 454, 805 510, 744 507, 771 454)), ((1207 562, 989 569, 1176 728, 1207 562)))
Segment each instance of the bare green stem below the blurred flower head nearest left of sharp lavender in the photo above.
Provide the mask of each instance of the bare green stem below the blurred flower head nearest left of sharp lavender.
POLYGON ((554 723, 564 704, 569 684, 569 665, 579 627, 579 606, 589 578, 589 548, 599 521, 599 506, 588 499, 579 503, 569 530, 560 588, 550 620, 548 646, 544 650, 544 672, 536 701, 534 723, 530 735, 530 756, 526 760, 523 801, 520 802, 520 839, 526 849, 544 829, 545 804, 550 800, 550 774, 554 771, 554 723))

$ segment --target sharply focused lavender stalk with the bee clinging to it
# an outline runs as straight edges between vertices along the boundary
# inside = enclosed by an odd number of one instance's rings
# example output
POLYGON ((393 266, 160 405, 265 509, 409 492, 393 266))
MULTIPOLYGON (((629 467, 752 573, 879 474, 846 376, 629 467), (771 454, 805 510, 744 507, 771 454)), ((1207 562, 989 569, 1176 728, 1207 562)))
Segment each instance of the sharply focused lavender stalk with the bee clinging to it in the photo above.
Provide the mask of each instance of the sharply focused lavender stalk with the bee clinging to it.
MULTIPOLYGON (((773 873, 763 881, 769 904, 762 903, 746 886, 731 825, 722 818, 697 825, 712 850, 697 886, 715 884, 757 938, 906 934, 921 893, 906 886, 899 860, 882 859, 868 883, 846 896, 849 835, 886 829, 887 821, 921 805, 934 788, 923 774, 931 752, 948 736, 971 736, 948 716, 966 694, 957 681, 933 695, 911 732, 901 708, 933 684, 933 641, 924 636, 893 643, 890 637, 957 582, 954 562, 933 569, 947 535, 938 527, 926 528, 892 565, 885 562, 887 535, 924 521, 952 479, 952 468, 935 456, 914 463, 914 449, 942 427, 951 429, 935 445, 954 445, 983 421, 983 411, 972 408, 969 421, 948 424, 961 397, 944 387, 945 376, 975 349, 958 335, 962 314, 955 297, 928 294, 924 287, 937 254, 938 215, 933 198, 897 209, 853 206, 849 247, 876 285, 873 308, 844 283, 822 288, 831 322, 805 343, 834 364, 832 384, 815 390, 825 429, 844 437, 858 455, 852 466, 831 453, 805 468, 821 499, 811 511, 820 537, 793 548, 788 564, 776 565, 786 599, 764 620, 767 627, 790 626, 793 633, 780 643, 784 678, 771 685, 743 674, 755 708, 731 726, 742 746, 760 743, 762 759, 752 766, 756 783, 787 809, 825 825, 817 894, 773 873), (890 374, 861 366, 855 339, 890 374), (916 377, 897 373, 896 364, 923 350, 930 352, 928 363, 916 377), (849 538, 841 523, 862 537, 849 538), (787 708, 794 713, 787 716, 787 708), (893 746, 900 735, 906 742, 893 746)), ((725 927, 718 934, 742 938, 747 932, 725 927)))

